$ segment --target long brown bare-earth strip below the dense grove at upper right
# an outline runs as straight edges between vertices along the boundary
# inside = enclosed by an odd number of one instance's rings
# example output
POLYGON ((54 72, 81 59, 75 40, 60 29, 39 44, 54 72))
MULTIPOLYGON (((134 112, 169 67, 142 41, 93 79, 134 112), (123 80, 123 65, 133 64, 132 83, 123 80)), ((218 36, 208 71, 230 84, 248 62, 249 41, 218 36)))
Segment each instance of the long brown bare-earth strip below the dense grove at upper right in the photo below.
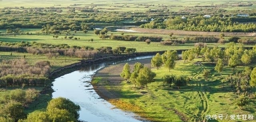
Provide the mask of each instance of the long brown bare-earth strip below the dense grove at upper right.
MULTIPOLYGON (((132 28, 133 31, 141 33, 159 33, 159 34, 170 34, 174 33, 177 35, 220 35, 222 32, 204 32, 204 31, 183 31, 183 30, 166 30, 166 29, 148 29, 148 28, 132 28)), ((256 33, 242 33, 242 32, 224 32, 224 35, 228 36, 256 36, 256 33)))

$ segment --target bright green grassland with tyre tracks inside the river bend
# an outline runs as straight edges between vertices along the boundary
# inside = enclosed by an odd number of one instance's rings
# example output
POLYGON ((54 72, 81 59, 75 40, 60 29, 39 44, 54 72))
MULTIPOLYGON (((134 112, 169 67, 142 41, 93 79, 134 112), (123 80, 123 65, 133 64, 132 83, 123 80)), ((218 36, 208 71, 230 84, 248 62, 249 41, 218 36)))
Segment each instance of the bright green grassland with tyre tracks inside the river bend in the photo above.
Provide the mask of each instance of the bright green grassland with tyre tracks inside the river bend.
MULTIPOLYGON (((139 62, 150 66, 150 60, 140 60, 139 62)), ((134 61, 128 63, 132 66, 134 61)), ((121 72, 123 65, 124 63, 109 66, 99 71, 94 78, 94 86, 99 94, 118 108, 132 111, 148 120, 199 122, 205 120, 207 114, 222 114, 224 118, 228 116, 226 120, 217 119, 209 120, 209 122, 236 122, 230 120, 230 114, 256 114, 255 101, 246 106, 244 110, 240 110, 232 102, 237 95, 231 91, 228 83, 222 83, 224 77, 233 73, 232 69, 227 66, 224 67, 220 78, 220 74, 214 71, 215 65, 212 63, 201 62, 201 59, 187 63, 180 60, 170 72, 165 67, 158 70, 153 68, 152 71, 157 74, 156 82, 149 84, 144 89, 135 89, 134 85, 128 84, 126 81, 117 83, 118 78, 116 77, 121 72), (202 76, 204 68, 211 69, 211 77, 208 80, 202 76), (113 69, 117 71, 113 71, 113 69), (186 75, 191 78, 191 81, 188 86, 181 87, 181 89, 176 89, 175 86, 169 87, 162 81, 162 76, 168 74, 186 75), (114 76, 115 79, 113 79, 114 76), (102 90, 102 88, 106 89, 102 90)), ((240 66, 237 71, 243 70, 243 68, 240 66)), ((248 122, 254 122, 254 120, 248 120, 248 122)))

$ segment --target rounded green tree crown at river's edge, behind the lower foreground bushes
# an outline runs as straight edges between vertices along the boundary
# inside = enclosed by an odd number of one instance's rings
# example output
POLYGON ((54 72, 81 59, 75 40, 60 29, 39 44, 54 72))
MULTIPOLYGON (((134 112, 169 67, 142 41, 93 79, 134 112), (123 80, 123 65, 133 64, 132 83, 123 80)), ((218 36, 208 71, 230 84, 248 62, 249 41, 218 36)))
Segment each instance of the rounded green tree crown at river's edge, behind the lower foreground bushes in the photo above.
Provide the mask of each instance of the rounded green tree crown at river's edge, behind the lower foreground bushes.
MULTIPOLYGON (((78 119, 78 117, 79 117, 78 111, 80 110, 80 106, 77 104, 74 104, 74 102, 72 102, 71 100, 69 100, 67 98, 59 97, 59 98, 54 98, 54 99, 50 100, 50 102, 48 102, 48 106, 46 108, 47 111, 55 110, 55 108, 67 110, 76 119, 78 119)), ((60 112, 64 112, 64 111, 60 111, 60 112)), ((66 112, 64 112, 64 113, 66 113, 66 112)), ((64 121, 59 121, 59 122, 64 122, 64 121)))

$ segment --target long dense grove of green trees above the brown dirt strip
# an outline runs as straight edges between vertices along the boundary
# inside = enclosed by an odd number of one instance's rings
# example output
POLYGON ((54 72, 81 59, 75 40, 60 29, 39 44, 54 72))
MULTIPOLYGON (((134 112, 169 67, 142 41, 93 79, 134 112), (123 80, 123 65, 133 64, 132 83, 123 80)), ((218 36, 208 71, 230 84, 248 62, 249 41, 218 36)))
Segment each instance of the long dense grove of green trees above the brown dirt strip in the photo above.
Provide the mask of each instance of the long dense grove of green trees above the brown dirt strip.
POLYGON ((213 16, 211 18, 196 16, 188 19, 176 17, 170 18, 164 22, 152 21, 143 24, 140 27, 211 32, 253 32, 256 30, 256 24, 254 23, 243 24, 235 22, 231 18, 220 18, 218 16, 213 16))

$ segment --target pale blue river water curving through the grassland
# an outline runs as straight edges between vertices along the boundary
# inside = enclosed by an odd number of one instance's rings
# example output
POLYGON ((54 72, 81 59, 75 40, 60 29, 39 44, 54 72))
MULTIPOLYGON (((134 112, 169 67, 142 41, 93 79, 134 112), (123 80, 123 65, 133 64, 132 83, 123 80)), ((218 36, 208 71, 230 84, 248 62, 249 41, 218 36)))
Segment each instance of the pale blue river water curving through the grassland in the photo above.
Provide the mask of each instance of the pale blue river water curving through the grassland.
MULTIPOLYGON (((146 59, 152 56, 130 58, 126 61, 146 59)), ((124 61, 118 61, 124 62, 124 61)), ((81 108, 79 119, 85 122, 142 122, 135 114, 115 108, 94 91, 91 80, 99 69, 118 62, 106 62, 83 67, 81 70, 58 77, 53 82, 52 98, 64 97, 81 108)))

